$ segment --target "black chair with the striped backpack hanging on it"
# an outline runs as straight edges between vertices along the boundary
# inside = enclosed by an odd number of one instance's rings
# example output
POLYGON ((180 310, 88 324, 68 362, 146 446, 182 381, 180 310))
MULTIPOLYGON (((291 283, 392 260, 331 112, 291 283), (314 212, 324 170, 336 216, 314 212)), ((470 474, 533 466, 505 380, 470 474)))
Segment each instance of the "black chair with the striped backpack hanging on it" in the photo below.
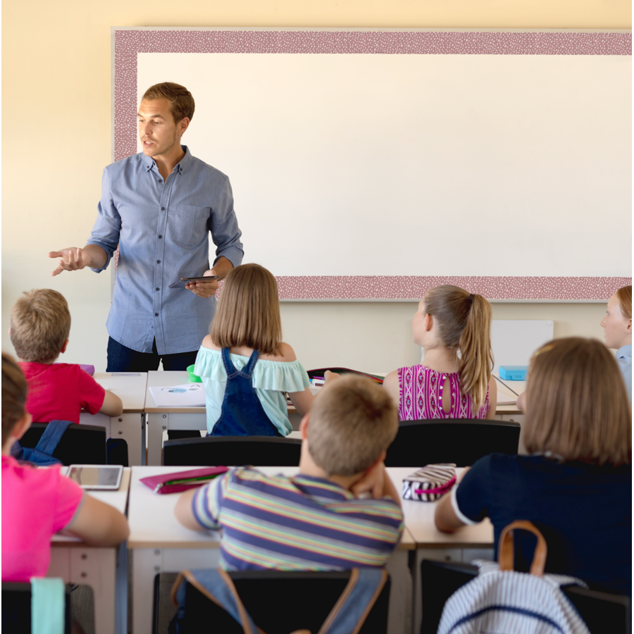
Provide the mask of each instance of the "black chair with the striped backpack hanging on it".
MULTIPOLYGON (((478 574, 469 564, 449 564, 444 561, 421 561, 423 592, 423 623, 421 634, 436 634, 442 609, 447 599, 478 574)), ((561 588, 576 607, 592 634, 630 634, 630 599, 608 592, 585 590, 569 586, 561 588)))

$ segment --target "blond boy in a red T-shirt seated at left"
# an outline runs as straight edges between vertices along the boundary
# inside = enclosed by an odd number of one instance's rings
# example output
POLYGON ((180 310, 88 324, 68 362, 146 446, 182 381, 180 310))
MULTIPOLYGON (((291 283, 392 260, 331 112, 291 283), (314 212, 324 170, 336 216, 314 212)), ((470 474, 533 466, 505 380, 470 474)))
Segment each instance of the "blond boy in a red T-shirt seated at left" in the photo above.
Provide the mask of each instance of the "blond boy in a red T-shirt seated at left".
POLYGON ((83 409, 123 414, 121 399, 104 390, 77 363, 55 363, 66 352, 70 312, 61 293, 49 288, 23 293, 11 309, 11 342, 28 384, 26 410, 35 423, 79 423, 83 409))

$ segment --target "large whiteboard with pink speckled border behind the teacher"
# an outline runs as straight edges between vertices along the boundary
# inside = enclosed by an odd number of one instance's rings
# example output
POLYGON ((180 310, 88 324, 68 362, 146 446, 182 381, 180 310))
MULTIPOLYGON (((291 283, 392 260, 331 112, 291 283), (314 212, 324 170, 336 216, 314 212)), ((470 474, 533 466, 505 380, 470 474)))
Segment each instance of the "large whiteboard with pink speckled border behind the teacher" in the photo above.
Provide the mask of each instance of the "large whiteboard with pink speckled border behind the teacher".
POLYGON ((114 159, 145 89, 185 85, 282 298, 631 283, 630 32, 113 27, 113 72, 114 159))

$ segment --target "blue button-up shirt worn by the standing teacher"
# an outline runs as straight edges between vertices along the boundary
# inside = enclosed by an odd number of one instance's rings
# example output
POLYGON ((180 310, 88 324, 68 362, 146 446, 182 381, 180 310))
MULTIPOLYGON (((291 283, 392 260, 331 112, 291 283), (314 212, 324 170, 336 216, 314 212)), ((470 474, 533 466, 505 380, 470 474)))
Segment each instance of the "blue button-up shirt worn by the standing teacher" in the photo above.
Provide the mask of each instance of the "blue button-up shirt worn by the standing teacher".
MULTIPOLYGON (((104 169, 99 215, 87 244, 119 247, 117 281, 106 326, 120 344, 159 354, 199 349, 216 312, 216 299, 168 288, 209 267, 209 232, 216 260, 242 262, 242 235, 229 179, 194 158, 187 147, 166 182, 142 153, 104 169)), ((214 260, 215 261, 215 260, 214 260)))

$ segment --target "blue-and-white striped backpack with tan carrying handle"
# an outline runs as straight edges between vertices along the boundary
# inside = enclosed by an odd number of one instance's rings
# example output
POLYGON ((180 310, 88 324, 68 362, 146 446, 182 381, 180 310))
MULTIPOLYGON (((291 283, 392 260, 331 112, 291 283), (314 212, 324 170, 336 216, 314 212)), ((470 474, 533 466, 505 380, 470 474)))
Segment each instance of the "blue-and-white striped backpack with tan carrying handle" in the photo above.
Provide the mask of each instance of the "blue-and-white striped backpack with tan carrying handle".
POLYGON ((528 521, 515 521, 499 536, 498 561, 474 561, 478 576, 456 590, 442 611, 438 634, 590 634, 562 585, 587 585, 580 579, 544 574, 547 547, 528 521), (513 529, 530 530, 537 547, 530 573, 514 571, 513 529))

